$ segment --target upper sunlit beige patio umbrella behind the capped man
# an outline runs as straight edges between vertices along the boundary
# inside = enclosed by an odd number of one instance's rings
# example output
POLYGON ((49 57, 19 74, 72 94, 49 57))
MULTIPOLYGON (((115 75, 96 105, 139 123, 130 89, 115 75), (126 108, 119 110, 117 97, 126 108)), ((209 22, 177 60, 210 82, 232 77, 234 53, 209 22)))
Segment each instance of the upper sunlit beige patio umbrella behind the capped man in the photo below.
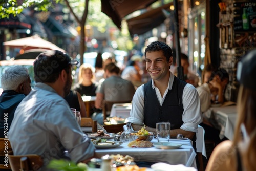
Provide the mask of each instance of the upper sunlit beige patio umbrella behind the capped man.
POLYGON ((61 52, 66 52, 64 49, 61 49, 55 44, 42 39, 38 35, 6 41, 4 42, 4 46, 22 48, 24 50, 39 48, 39 49, 59 50, 61 52))

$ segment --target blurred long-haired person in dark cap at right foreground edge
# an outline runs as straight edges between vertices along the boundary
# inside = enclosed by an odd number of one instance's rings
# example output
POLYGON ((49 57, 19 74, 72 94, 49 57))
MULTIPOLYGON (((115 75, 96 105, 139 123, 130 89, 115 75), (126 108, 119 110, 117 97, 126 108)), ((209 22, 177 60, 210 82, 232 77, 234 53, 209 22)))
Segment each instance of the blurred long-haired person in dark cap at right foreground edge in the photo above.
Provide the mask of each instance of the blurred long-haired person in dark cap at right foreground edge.
POLYGON ((216 146, 206 170, 256 170, 256 50, 239 62, 237 78, 241 84, 234 140, 216 146))

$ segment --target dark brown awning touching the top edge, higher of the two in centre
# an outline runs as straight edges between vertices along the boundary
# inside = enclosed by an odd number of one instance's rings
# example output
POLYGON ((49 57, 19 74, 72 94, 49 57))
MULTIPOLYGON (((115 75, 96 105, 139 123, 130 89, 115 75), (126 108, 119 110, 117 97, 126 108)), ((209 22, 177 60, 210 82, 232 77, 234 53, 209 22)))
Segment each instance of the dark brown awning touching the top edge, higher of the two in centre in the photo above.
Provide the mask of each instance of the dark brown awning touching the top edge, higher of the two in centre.
POLYGON ((101 0, 101 11, 108 15, 114 24, 121 29, 122 18, 134 11, 144 9, 157 0, 101 0))

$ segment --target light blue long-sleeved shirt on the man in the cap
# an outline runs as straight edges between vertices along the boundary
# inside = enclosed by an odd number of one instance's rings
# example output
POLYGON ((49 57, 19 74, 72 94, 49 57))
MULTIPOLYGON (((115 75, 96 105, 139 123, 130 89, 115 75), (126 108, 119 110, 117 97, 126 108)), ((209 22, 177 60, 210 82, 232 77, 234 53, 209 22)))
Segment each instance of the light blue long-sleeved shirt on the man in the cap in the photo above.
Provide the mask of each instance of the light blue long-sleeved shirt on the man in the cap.
POLYGON ((45 83, 37 83, 20 102, 8 138, 14 155, 38 154, 44 165, 65 158, 65 150, 74 162, 92 157, 95 151, 66 100, 45 83))

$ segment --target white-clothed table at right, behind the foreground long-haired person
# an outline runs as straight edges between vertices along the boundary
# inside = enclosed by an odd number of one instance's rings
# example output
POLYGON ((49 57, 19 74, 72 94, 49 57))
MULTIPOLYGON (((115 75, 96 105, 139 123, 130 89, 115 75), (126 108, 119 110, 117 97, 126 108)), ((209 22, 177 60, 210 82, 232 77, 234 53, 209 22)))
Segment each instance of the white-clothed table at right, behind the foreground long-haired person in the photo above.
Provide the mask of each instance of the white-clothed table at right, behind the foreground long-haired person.
POLYGON ((211 107, 204 113, 204 116, 220 130, 220 139, 227 137, 233 140, 234 126, 237 121, 237 106, 211 107))

